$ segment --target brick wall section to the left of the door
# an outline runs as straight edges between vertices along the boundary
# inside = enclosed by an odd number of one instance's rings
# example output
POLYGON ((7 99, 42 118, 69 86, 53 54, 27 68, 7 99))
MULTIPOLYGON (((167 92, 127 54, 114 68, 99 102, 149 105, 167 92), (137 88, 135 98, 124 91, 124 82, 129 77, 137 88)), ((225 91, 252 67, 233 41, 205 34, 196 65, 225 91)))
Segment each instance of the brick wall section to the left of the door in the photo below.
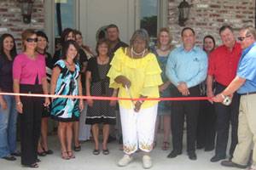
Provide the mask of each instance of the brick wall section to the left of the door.
POLYGON ((8 32, 15 37, 20 50, 20 34, 27 28, 44 29, 44 0, 33 4, 32 22, 24 24, 18 0, 0 0, 0 35, 8 32))

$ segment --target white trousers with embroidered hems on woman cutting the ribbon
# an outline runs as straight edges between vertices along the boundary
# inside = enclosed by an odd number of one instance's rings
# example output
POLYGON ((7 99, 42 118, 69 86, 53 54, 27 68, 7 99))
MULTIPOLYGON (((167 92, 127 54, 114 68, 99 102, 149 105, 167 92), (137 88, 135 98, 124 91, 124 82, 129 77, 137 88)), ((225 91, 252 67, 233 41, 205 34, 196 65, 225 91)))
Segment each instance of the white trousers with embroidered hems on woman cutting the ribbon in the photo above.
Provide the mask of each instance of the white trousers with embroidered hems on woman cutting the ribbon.
POLYGON ((154 105, 139 112, 120 107, 125 154, 131 155, 138 147, 145 152, 152 150, 157 107, 154 105))

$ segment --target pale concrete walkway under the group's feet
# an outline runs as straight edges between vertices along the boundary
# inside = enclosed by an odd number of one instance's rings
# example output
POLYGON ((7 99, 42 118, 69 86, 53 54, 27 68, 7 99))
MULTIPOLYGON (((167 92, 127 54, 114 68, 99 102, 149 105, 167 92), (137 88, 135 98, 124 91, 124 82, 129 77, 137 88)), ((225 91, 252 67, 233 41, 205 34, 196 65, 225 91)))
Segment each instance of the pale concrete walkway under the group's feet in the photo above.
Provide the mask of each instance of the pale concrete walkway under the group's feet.
MULTIPOLYGON (((160 149, 161 141, 158 141, 156 148, 152 151, 152 158, 154 161, 154 167, 152 170, 233 170, 236 168, 222 167, 220 162, 212 163, 209 160, 213 156, 214 152, 205 152, 203 150, 197 150, 197 160, 190 161, 186 155, 185 148, 183 149, 183 155, 170 159, 166 156, 170 153, 170 150, 163 151, 160 149)), ((185 144, 183 144, 185 146, 185 144)), ((92 142, 85 142, 82 144, 82 150, 74 152, 76 158, 72 160, 61 159, 61 151, 59 148, 59 141, 57 136, 49 137, 49 148, 54 150, 54 155, 38 157, 39 162, 38 170, 127 170, 127 169, 143 169, 142 167, 142 154, 137 153, 134 157, 134 161, 127 167, 117 167, 117 161, 123 152, 119 150, 119 144, 116 142, 110 143, 108 148, 110 154, 108 156, 102 153, 98 156, 92 155, 94 148, 92 142)), ((1 170, 24 170, 32 169, 22 167, 20 165, 20 158, 17 161, 5 161, 0 159, 1 170)))

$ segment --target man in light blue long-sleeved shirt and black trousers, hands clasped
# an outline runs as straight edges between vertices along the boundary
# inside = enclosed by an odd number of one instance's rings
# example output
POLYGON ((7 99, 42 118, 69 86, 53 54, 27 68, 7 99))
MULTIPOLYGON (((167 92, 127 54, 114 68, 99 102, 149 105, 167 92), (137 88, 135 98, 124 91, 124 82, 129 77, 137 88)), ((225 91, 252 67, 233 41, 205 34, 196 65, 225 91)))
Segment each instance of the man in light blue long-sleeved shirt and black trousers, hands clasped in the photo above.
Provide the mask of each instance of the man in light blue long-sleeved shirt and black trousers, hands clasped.
MULTIPOLYGON (((195 31, 183 28, 181 32, 183 46, 175 48, 169 55, 166 65, 166 76, 176 86, 173 97, 200 96, 199 84, 207 77, 207 54, 195 47, 195 31)), ((187 122, 187 152, 189 159, 196 160, 195 139, 199 101, 172 102, 172 145, 169 158, 182 154, 184 116, 187 122)))

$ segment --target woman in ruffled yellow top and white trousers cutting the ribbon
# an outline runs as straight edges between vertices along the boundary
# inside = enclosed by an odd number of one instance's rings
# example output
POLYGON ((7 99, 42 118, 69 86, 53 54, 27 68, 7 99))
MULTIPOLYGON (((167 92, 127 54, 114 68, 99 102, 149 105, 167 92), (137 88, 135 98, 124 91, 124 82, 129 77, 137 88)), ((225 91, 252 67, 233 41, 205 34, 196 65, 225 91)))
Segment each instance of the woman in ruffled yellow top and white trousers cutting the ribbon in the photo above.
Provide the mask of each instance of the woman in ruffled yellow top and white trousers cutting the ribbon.
MULTIPOLYGON (((134 32, 130 47, 119 48, 108 72, 110 88, 119 88, 121 98, 158 98, 160 66, 154 54, 148 51, 148 32, 134 32)), ((152 167, 149 152, 154 142, 154 125, 157 116, 156 100, 119 100, 125 156, 118 162, 120 167, 132 161, 132 154, 143 150, 143 167, 152 167)))

